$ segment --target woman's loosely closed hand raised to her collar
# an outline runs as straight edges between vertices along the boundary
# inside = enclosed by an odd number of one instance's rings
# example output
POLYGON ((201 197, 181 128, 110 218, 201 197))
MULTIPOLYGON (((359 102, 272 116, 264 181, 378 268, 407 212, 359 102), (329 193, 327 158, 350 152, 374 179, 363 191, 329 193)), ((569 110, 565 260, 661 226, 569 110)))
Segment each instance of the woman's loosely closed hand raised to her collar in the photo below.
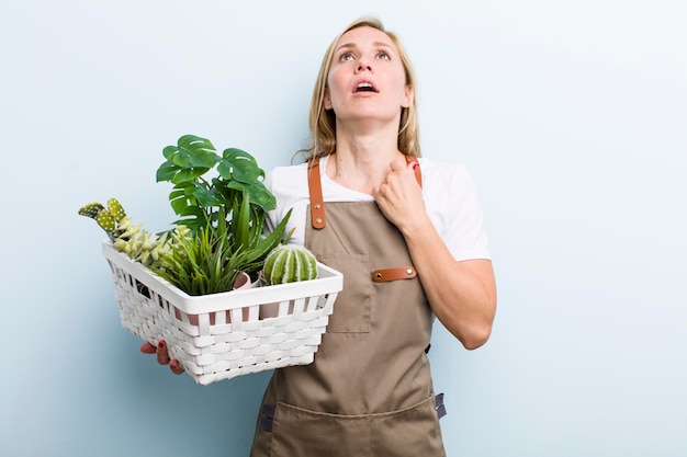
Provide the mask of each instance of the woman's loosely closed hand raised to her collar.
POLYGON ((425 213, 423 190, 415 178, 417 162, 394 159, 384 182, 376 188, 374 199, 384 216, 401 231, 425 213))

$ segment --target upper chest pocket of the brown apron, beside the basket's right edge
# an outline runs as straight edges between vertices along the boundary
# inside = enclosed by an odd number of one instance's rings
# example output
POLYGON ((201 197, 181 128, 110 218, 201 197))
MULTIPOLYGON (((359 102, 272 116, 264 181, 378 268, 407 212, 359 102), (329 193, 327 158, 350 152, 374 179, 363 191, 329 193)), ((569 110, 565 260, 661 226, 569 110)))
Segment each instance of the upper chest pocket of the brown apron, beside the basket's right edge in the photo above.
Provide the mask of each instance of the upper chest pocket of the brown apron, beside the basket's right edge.
POLYGON ((333 253, 318 260, 344 274, 344 289, 334 304, 327 332, 369 333, 373 283, 368 255, 333 253))

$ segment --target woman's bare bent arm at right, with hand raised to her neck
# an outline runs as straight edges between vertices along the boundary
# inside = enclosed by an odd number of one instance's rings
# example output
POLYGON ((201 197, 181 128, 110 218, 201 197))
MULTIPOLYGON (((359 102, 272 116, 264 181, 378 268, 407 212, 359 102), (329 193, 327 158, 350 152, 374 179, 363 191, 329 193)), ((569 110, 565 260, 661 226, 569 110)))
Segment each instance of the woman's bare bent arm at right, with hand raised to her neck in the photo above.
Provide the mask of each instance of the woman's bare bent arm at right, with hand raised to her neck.
POLYGON ((401 160, 391 167, 375 193, 378 205, 403 233, 435 315, 466 349, 480 347, 496 312, 492 262, 455 261, 425 210, 412 164, 401 160))

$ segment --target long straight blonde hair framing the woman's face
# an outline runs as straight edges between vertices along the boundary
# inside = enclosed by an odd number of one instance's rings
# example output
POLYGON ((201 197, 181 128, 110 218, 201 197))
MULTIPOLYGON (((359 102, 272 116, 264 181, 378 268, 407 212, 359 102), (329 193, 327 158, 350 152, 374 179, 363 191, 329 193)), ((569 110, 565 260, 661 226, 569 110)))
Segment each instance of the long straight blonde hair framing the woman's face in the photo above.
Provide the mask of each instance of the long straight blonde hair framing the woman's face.
POLYGON ((397 147, 398 150, 406 156, 420 157, 415 73, 413 72, 413 67, 410 66, 408 56, 401 46, 398 37, 393 32, 387 32, 384 28, 382 21, 375 18, 361 18, 353 21, 331 42, 322 60, 319 73, 317 75, 317 81, 315 82, 315 88, 313 90, 308 116, 312 144, 308 148, 299 151, 305 156, 306 160, 315 157, 327 156, 336 151, 336 115, 333 110, 325 110, 324 103, 325 93, 327 91, 327 78, 329 76, 331 60, 334 58, 334 53, 339 38, 341 38, 341 36, 347 32, 365 26, 384 32, 398 50, 398 56, 401 57, 401 62, 403 64, 403 68, 405 70, 406 84, 410 85, 414 90, 410 105, 408 107, 403 107, 401 112, 397 147))

